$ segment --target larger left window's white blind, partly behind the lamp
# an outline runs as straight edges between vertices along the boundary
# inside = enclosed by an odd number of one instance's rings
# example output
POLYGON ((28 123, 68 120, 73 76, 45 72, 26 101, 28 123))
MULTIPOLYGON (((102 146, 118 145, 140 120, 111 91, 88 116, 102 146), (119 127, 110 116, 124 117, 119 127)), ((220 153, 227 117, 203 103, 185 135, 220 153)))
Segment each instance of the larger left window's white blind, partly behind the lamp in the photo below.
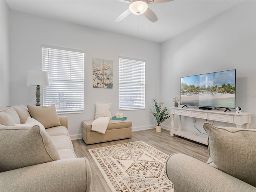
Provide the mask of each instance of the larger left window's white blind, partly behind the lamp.
POLYGON ((43 70, 49 87, 43 88, 43 105, 57 112, 84 111, 84 53, 42 48, 43 70))

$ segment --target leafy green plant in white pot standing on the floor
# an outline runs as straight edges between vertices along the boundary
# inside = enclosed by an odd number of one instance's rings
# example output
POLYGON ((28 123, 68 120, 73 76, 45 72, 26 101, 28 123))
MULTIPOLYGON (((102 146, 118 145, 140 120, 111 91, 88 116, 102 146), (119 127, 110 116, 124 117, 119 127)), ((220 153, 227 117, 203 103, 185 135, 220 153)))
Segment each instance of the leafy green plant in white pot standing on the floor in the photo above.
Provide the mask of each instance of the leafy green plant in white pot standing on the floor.
POLYGON ((153 99, 152 102, 153 108, 150 109, 150 113, 156 118, 156 122, 158 123, 158 125, 156 126, 156 132, 161 132, 162 128, 160 126, 160 123, 168 119, 170 115, 168 113, 168 109, 166 107, 163 107, 163 102, 160 102, 158 104, 155 99, 153 99))

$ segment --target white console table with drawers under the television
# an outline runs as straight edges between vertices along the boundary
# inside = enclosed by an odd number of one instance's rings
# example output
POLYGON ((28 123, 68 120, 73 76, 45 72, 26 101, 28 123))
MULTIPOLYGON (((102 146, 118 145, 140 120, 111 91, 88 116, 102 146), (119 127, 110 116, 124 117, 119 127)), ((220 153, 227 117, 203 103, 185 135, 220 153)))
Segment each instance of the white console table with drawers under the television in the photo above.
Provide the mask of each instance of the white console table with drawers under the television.
POLYGON ((171 122, 171 132, 170 135, 178 135, 190 140, 194 140, 196 142, 207 145, 207 138, 203 136, 198 136, 196 134, 192 134, 186 131, 182 131, 182 123, 181 116, 188 116, 192 118, 200 118, 205 120, 214 120, 220 122, 227 122, 236 124, 236 127, 241 128, 244 124, 246 129, 249 128, 249 124, 251 123, 251 113, 236 113, 236 112, 224 112, 219 110, 200 110, 193 108, 176 108, 170 107, 170 114, 172 116, 171 122), (179 115, 179 128, 178 130, 174 130, 174 115, 179 115))

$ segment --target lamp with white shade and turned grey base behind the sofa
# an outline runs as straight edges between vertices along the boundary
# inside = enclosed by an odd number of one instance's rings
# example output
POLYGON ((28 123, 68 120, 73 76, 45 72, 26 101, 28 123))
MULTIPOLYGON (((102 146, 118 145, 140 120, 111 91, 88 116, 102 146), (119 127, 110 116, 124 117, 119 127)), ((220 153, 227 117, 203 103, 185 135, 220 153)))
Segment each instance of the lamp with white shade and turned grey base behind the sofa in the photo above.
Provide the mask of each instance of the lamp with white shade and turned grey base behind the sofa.
POLYGON ((36 106, 40 106, 40 86, 49 86, 48 72, 28 71, 28 86, 36 86, 36 106))

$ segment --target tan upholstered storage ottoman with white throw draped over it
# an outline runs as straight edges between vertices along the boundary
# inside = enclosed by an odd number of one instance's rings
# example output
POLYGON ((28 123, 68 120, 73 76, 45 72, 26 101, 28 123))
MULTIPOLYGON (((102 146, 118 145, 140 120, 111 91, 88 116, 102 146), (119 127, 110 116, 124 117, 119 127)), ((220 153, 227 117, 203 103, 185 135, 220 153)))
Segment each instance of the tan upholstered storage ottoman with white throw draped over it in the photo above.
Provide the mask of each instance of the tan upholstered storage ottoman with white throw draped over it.
POLYGON ((105 134, 92 131, 93 121, 82 121, 82 138, 86 144, 125 139, 132 136, 132 122, 130 120, 121 121, 110 119, 105 134))

